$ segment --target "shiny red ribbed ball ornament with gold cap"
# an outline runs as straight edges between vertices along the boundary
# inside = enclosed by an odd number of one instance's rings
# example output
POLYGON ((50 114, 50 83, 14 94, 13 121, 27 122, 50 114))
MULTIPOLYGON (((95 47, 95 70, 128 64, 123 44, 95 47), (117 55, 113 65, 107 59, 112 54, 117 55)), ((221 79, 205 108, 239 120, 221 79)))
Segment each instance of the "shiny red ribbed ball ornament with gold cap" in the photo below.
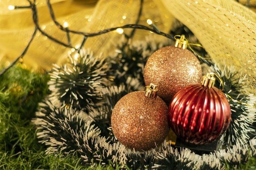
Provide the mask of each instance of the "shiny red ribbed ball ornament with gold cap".
POLYGON ((178 91, 169 106, 168 121, 181 141, 198 145, 218 139, 228 128, 231 110, 226 96, 214 87, 213 73, 201 84, 178 91))

